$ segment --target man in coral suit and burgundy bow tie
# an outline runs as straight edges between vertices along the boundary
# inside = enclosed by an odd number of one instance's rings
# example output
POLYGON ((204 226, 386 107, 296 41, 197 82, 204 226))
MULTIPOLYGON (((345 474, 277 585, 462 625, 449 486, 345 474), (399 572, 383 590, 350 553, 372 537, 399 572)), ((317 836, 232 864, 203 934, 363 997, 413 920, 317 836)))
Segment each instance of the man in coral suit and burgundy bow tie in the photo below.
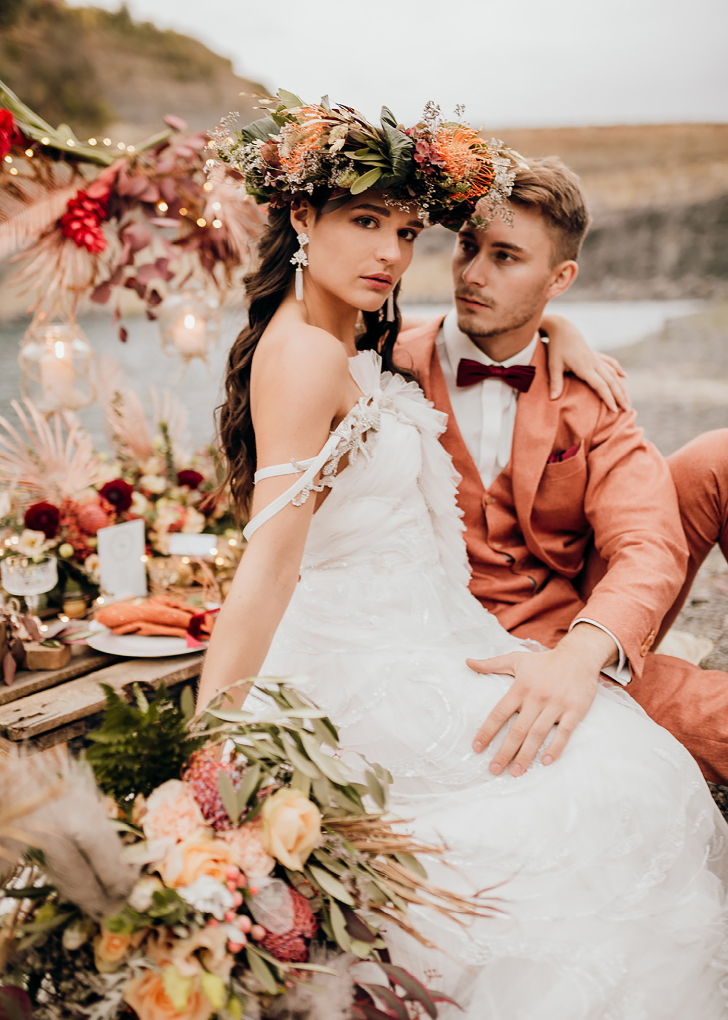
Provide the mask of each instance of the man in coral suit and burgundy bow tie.
POLYGON ((455 309, 405 330, 398 352, 449 416, 441 442, 462 475, 473 595, 549 649, 469 662, 515 677, 473 747, 515 717, 490 770, 521 775, 554 726, 550 764, 605 673, 726 783, 728 674, 651 649, 712 546, 728 553, 728 431, 666 461, 634 411, 609 410, 580 380, 551 399, 537 327, 576 278, 588 213, 554 158, 518 171, 511 209, 511 223, 460 231, 455 309))

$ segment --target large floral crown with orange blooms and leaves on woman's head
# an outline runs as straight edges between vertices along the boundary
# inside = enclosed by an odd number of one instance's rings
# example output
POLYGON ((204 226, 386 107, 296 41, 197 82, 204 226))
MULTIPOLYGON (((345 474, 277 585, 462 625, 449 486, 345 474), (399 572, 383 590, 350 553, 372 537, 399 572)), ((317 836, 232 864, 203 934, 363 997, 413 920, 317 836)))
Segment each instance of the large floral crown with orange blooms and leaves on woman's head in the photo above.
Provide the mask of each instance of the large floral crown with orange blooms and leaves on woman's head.
POLYGON ((241 173, 258 203, 273 208, 318 189, 358 195, 374 188, 387 192, 387 204, 414 203, 425 223, 457 231, 466 220, 483 225, 491 219, 511 193, 516 167, 524 165, 501 142, 443 120, 432 103, 413 128, 403 128, 383 106, 376 128, 349 106, 331 106, 326 96, 306 105, 281 89, 267 116, 236 131, 237 116, 225 117, 209 146, 241 173), (483 199, 486 217, 474 216, 483 199))

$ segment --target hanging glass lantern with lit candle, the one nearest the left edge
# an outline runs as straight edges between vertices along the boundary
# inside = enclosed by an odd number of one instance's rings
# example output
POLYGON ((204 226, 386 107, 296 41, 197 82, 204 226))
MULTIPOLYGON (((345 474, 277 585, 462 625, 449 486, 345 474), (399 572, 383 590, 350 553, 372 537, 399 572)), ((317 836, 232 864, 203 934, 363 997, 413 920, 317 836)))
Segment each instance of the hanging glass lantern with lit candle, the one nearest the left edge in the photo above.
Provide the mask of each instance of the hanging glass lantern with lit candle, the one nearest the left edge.
POLYGON ((73 318, 38 314, 18 355, 20 388, 42 414, 77 411, 93 403, 94 352, 73 318))

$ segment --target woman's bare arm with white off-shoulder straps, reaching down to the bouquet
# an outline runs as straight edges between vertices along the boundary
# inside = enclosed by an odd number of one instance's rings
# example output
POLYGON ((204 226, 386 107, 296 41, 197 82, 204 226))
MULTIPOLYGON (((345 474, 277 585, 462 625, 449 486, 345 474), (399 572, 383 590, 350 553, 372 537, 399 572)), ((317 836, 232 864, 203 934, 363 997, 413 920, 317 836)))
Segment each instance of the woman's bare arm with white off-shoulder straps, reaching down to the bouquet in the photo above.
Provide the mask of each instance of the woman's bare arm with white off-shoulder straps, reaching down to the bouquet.
MULTIPOLYGON (((315 330, 320 333, 320 330, 315 330)), ((252 401, 258 467, 315 456, 341 413, 349 379, 337 342, 306 337, 256 365, 252 401)), ((255 488, 251 516, 300 475, 265 478, 255 488)), ((200 680, 198 711, 223 687, 257 676, 299 578, 315 495, 289 504, 253 533, 215 623, 200 680)), ((247 692, 238 688, 242 704, 247 692)))

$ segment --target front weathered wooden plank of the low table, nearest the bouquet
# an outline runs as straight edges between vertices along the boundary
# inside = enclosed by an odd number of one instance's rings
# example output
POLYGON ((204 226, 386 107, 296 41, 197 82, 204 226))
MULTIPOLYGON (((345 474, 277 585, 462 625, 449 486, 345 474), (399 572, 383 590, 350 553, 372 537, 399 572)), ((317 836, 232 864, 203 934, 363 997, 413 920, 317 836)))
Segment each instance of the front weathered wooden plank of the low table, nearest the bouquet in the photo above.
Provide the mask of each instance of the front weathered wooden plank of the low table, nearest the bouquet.
POLYGON ((98 669, 87 676, 68 680, 50 691, 41 691, 0 709, 0 733, 9 741, 25 741, 84 719, 104 707, 99 686, 108 683, 116 691, 135 681, 173 686, 196 677, 202 655, 170 656, 164 659, 126 659, 98 669))

